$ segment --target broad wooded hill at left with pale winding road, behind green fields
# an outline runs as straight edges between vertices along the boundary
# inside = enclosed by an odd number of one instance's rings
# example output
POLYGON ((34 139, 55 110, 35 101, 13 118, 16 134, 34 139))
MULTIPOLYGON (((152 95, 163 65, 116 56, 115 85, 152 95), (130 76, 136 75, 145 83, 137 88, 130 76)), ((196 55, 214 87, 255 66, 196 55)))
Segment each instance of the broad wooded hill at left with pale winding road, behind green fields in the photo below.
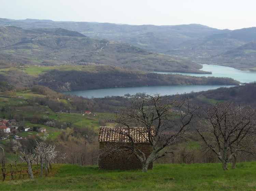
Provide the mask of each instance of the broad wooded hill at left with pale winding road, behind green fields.
POLYGON ((186 59, 147 52, 132 45, 93 39, 66 29, 0 28, 1 60, 37 65, 108 65, 146 71, 200 72, 186 59))

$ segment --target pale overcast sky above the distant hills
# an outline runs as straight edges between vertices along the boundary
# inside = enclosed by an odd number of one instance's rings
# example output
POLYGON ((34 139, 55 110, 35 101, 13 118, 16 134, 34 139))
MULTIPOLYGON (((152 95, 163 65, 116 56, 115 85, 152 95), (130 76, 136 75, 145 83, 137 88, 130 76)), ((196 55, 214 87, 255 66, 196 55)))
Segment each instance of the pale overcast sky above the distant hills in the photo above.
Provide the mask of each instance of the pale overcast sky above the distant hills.
POLYGON ((0 0, 0 18, 256 27, 256 0, 0 0))

